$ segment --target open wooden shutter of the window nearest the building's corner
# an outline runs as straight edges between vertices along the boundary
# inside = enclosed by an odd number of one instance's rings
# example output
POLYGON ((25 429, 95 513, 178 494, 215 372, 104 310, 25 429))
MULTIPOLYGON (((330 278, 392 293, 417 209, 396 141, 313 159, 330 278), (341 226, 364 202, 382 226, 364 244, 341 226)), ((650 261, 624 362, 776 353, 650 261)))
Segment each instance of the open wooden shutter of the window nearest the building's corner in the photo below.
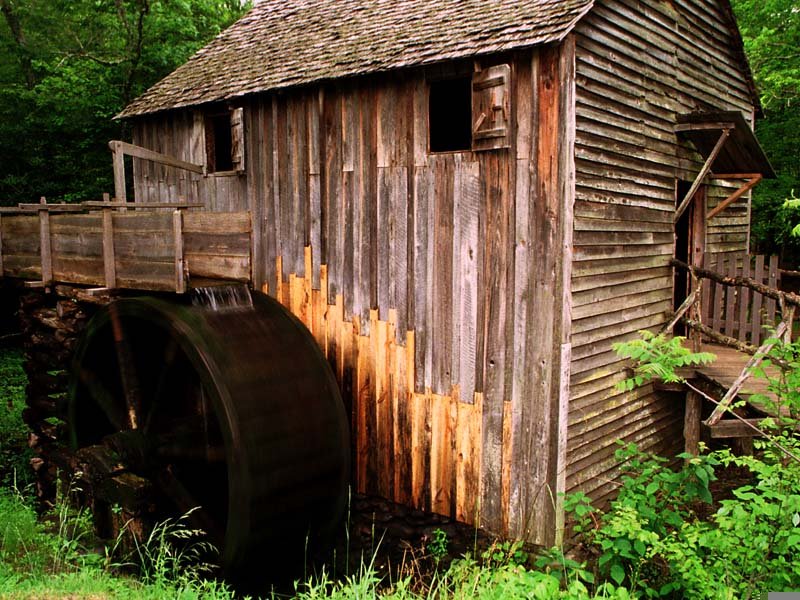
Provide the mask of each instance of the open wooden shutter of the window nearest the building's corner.
POLYGON ((495 65, 472 76, 472 149, 511 145, 511 67, 495 65))

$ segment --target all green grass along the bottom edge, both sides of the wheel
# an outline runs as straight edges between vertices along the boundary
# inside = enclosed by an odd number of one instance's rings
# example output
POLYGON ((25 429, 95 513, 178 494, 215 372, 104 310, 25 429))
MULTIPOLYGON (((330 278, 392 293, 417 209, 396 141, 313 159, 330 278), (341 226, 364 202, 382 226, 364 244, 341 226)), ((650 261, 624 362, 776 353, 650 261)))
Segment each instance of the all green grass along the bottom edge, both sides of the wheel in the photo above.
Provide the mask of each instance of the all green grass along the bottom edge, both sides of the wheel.
MULTIPOLYGON (((181 520, 162 524, 138 547, 137 556, 119 557, 96 547, 91 519, 66 501, 39 518, 26 485, 32 481, 25 406, 23 355, 0 349, 0 598, 211 598, 235 597, 222 583, 202 578, 185 540, 193 532, 181 520), (22 489, 23 491, 20 491, 22 489), (174 540, 183 540, 177 544, 174 540), (125 575, 131 562, 138 577, 125 575), (120 567, 126 567, 122 569, 120 567)), ((194 532, 196 533, 196 532, 194 532)), ((446 540, 440 540, 446 543, 446 540)), ((434 549, 429 550, 433 553, 434 549)), ((202 553, 202 552, 201 552, 202 553)), ((435 555, 435 553, 433 553, 435 555)), ((298 582, 298 600, 445 600, 449 598, 628 598, 624 589, 606 586, 592 595, 581 569, 530 570, 519 564, 517 546, 498 546, 481 561, 464 558, 432 574, 414 564, 391 581, 372 564, 334 581, 325 573, 298 582)), ((437 563, 438 564, 438 563, 437 563)), ((267 594, 268 598, 278 598, 267 594)), ((280 596, 285 597, 285 596, 280 596)))

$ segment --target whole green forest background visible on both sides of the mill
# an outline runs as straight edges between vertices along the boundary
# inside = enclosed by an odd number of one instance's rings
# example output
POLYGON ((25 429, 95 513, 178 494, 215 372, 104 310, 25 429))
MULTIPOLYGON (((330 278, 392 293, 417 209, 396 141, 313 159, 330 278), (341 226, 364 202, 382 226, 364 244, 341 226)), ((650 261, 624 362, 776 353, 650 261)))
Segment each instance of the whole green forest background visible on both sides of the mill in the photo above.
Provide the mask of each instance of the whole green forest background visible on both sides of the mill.
MULTIPOLYGON (((366 0, 365 0, 366 1, 366 0)), ((0 205, 98 199, 129 101, 252 0, 0 0, 0 205)), ((753 193, 752 250, 800 267, 800 0, 732 0, 759 90, 756 133, 778 178, 753 193)))

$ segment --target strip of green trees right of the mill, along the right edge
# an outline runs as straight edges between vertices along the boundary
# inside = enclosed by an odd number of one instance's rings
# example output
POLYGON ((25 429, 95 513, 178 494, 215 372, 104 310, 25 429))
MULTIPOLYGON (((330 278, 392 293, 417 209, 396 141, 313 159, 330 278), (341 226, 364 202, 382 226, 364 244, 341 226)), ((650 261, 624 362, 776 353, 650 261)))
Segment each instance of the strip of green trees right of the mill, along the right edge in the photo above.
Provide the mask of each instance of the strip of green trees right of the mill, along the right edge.
POLYGON ((784 208, 800 194, 800 1, 733 0, 747 57, 759 89, 764 118, 756 125, 778 174, 753 192, 752 245, 800 266, 800 238, 791 231, 800 213, 784 208))

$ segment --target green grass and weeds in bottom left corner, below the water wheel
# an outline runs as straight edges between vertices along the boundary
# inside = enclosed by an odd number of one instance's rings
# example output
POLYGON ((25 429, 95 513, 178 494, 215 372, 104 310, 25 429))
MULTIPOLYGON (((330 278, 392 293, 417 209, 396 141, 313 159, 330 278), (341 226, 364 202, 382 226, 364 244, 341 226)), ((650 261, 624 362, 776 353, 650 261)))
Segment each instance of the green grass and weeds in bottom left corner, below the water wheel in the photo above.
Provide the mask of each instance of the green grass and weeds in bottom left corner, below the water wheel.
POLYGON ((115 571, 110 549, 94 550, 85 510, 62 499, 39 520, 28 498, 0 488, 0 597, 232 599, 224 584, 200 576, 195 535, 183 519, 156 527, 139 548, 145 569, 139 581, 115 571))

